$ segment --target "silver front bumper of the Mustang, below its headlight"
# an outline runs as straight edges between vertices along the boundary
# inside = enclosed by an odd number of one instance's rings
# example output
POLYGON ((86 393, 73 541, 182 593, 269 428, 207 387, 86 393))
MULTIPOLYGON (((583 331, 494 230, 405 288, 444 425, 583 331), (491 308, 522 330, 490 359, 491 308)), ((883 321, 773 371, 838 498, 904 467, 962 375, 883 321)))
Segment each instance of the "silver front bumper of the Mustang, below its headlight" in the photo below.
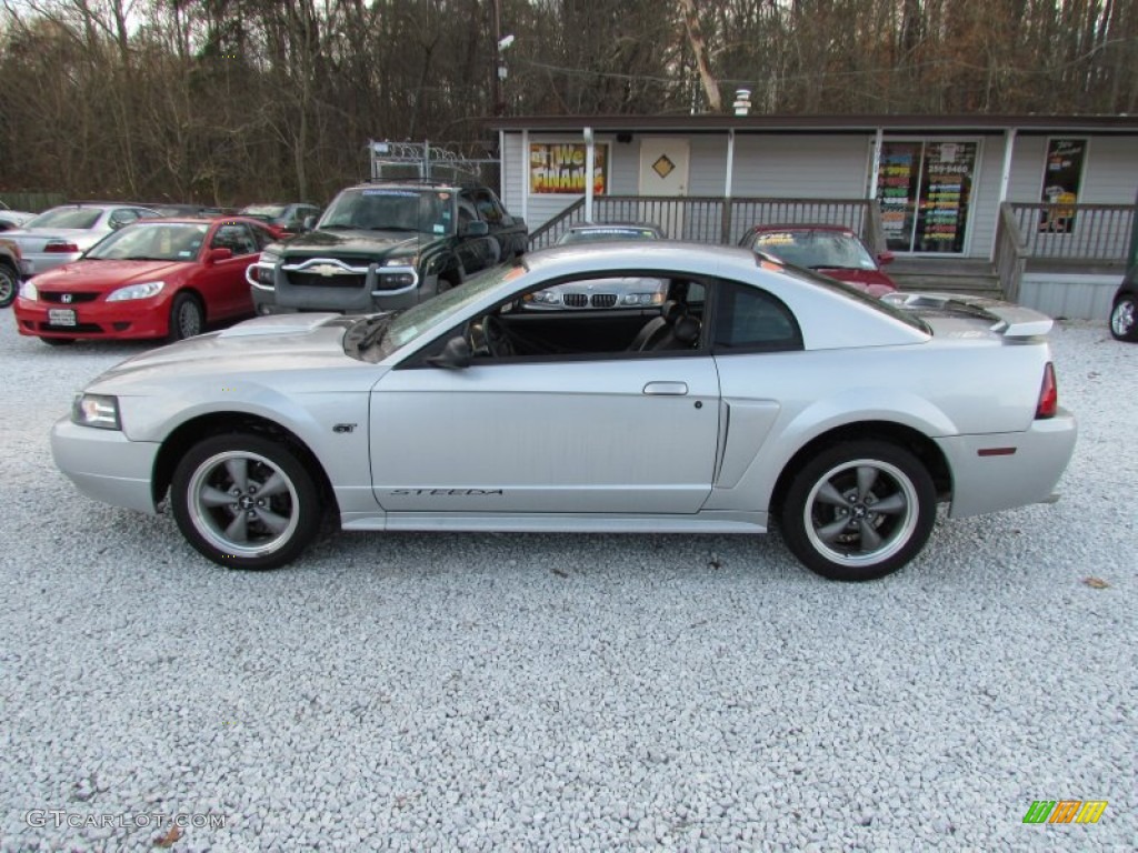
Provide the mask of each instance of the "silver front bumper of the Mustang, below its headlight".
POLYGON ((159 445, 131 441, 117 430, 80 426, 63 417, 51 429, 56 466, 89 498, 155 514, 151 489, 159 445))

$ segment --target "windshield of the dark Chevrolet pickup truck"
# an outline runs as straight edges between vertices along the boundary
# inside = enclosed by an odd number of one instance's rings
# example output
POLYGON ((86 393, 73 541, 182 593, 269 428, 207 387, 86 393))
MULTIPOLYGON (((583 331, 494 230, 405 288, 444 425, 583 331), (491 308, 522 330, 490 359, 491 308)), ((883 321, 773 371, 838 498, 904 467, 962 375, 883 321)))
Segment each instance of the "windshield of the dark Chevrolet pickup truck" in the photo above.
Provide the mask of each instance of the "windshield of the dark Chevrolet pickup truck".
POLYGON ((454 233, 454 193, 446 190, 354 189, 341 192, 318 227, 454 233))

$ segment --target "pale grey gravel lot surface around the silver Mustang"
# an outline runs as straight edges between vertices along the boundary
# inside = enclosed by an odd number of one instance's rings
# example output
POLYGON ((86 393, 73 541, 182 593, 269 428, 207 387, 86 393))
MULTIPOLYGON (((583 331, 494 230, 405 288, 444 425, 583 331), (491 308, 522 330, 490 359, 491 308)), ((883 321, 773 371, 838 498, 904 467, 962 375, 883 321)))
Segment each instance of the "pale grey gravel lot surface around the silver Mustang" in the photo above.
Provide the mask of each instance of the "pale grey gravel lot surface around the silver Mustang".
POLYGON ((1138 850, 1138 347, 1053 341, 1063 500, 882 581, 681 536, 340 535, 254 574, 51 463, 142 347, 0 312, 0 850, 147 850, 175 813, 224 821, 176 851, 1138 850))

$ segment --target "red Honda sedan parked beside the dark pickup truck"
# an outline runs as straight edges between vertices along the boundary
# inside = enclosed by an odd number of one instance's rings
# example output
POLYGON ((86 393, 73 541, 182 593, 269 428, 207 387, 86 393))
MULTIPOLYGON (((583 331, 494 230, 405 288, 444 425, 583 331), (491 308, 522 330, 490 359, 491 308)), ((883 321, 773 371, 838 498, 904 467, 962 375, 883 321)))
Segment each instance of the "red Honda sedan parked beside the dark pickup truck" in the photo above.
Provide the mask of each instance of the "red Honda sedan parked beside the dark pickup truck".
POLYGON ((79 260, 28 279, 16 299, 16 325, 53 345, 189 338, 206 323, 253 314, 245 270, 272 241, 254 220, 143 220, 79 260))

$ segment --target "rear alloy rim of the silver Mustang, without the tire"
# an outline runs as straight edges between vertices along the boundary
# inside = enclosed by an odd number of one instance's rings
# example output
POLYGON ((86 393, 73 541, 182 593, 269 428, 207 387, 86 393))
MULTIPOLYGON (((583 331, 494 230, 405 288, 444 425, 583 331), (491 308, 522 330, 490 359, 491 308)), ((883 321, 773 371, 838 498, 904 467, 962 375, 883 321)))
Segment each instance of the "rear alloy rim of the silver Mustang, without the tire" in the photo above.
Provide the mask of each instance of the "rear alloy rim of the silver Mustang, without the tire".
POLYGON ((916 487, 888 462, 843 462, 810 489, 802 521, 810 544, 827 560, 851 568, 875 565, 913 537, 916 487))

